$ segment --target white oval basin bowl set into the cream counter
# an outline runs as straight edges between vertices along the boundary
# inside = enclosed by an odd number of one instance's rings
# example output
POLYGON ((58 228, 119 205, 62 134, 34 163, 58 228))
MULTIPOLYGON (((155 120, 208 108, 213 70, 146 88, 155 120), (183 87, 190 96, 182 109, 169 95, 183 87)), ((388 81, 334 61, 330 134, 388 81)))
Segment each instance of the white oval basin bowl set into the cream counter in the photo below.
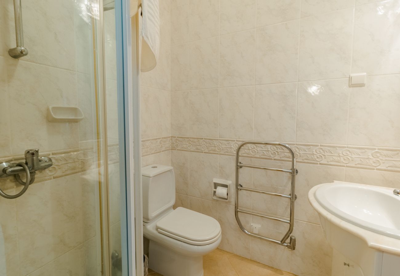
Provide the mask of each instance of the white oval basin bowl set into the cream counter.
POLYGON ((329 213, 369 231, 400 239, 400 196, 387 189, 355 183, 330 183, 315 192, 329 213))

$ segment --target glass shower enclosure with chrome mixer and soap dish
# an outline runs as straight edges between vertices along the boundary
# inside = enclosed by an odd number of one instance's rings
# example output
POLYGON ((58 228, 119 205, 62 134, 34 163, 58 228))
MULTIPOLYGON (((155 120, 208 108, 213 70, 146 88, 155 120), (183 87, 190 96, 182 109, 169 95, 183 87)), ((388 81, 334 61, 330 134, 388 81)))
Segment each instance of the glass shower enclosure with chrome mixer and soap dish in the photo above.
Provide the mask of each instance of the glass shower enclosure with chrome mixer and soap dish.
POLYGON ((1 276, 128 275, 122 4, 0 2, 1 276))

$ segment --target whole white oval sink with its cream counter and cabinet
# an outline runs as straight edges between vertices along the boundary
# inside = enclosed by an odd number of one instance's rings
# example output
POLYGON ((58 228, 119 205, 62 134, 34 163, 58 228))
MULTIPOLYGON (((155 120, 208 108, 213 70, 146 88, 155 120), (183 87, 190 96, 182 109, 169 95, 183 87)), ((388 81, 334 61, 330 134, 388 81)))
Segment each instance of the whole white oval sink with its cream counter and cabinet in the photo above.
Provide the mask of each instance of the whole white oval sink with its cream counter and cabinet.
POLYGON ((334 248, 332 276, 400 275, 400 196, 393 188, 334 181, 313 187, 308 200, 334 248))

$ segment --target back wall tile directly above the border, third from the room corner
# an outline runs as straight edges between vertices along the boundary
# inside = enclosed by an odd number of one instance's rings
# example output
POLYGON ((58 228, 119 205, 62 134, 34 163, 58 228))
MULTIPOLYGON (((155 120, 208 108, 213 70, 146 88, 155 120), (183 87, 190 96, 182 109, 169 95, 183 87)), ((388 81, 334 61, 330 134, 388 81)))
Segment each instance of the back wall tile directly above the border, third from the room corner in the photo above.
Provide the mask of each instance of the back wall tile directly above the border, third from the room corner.
POLYGON ((219 137, 252 139, 254 86, 220 88, 219 137))

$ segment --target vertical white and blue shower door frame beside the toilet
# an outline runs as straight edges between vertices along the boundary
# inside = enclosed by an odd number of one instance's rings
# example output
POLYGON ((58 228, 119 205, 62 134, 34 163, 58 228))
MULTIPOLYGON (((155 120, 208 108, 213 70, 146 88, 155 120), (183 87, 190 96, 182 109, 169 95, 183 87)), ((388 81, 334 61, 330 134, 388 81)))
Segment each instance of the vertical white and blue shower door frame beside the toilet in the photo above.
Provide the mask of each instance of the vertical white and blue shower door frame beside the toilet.
POLYGON ((125 145, 121 150, 125 156, 120 155, 125 170, 120 171, 120 179, 125 179, 121 184, 126 183, 126 187, 121 186, 121 199, 126 199, 121 200, 121 217, 126 218, 121 220, 121 237, 127 237, 126 246, 122 246, 122 264, 126 264, 122 275, 143 276, 138 14, 130 17, 129 0, 116 0, 115 9, 117 62, 122 65, 117 66, 118 110, 124 117, 119 123, 125 132, 120 136, 120 145, 125 145))

